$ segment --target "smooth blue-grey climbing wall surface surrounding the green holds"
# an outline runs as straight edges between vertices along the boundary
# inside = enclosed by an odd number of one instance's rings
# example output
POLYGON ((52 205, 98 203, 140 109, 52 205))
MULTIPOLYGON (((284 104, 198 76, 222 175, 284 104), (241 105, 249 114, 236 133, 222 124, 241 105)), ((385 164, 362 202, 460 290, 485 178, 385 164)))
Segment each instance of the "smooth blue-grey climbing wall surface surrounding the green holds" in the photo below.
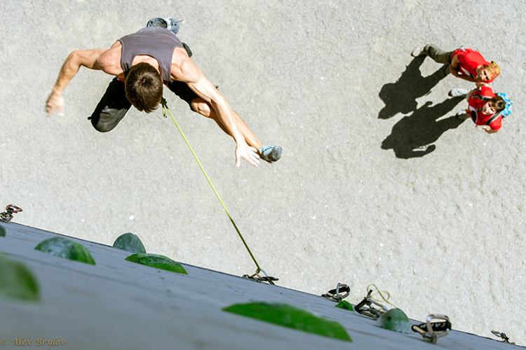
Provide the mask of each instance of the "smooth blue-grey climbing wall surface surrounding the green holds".
POLYGON ((63 349, 519 349, 457 330, 431 344, 413 331, 379 328, 374 319, 339 309, 325 297, 186 264, 187 274, 147 267, 126 261, 130 251, 90 241, 73 239, 90 251, 95 265, 58 258, 34 250, 57 235, 2 225, 0 256, 22 262, 40 290, 38 302, 0 297, 0 344, 6 348, 25 339, 29 347, 52 343, 63 349), (336 321, 352 342, 222 310, 250 302, 288 304, 336 321))

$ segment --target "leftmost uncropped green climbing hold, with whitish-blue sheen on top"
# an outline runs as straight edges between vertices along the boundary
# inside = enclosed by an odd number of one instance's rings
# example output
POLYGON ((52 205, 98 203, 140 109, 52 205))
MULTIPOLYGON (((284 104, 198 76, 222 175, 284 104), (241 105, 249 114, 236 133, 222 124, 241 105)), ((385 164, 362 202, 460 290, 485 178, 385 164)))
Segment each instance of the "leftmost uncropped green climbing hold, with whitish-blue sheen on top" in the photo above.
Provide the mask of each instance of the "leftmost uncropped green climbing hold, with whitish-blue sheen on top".
POLYGON ((86 264, 95 265, 95 260, 90 251, 82 244, 76 243, 64 237, 53 237, 41 241, 35 250, 55 255, 58 258, 66 258, 86 264))

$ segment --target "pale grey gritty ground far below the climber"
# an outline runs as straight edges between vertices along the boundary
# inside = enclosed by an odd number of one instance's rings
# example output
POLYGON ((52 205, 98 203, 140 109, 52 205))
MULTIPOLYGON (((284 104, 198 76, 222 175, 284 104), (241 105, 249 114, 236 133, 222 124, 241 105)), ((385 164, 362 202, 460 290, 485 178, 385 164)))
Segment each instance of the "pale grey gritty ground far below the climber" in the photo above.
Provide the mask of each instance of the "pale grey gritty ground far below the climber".
MULTIPOLYGON (((112 79, 81 68, 65 116, 44 106, 69 52, 109 48, 149 18, 184 20, 194 62, 283 158, 234 164, 235 144, 166 90, 170 109, 259 265, 280 286, 353 299, 375 283, 407 316, 526 344, 525 14, 522 1, 1 1, 0 204, 13 221, 241 276, 255 266, 174 123, 86 119, 112 79), (514 112, 497 134, 454 113, 422 43, 480 50, 514 112), (416 150, 416 151, 415 151, 416 150)), ((1 247, 0 247, 1 250, 1 247)))

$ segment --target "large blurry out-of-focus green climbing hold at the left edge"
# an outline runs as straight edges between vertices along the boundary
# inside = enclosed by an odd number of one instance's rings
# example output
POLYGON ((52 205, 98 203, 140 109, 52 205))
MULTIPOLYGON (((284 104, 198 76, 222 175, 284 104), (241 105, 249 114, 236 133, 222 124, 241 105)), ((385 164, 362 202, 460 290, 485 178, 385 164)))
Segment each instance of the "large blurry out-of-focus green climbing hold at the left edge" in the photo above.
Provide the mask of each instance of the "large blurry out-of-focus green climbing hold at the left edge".
POLYGON ((40 298, 39 283, 32 272, 4 254, 0 254, 0 296, 29 301, 40 298))

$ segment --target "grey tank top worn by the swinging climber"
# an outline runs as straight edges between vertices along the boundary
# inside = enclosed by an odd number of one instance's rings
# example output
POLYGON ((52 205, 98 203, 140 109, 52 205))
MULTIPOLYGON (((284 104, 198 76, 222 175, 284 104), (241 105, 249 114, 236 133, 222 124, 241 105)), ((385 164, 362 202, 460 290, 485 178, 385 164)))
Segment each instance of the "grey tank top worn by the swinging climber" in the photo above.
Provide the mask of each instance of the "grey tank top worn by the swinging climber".
POLYGON ((171 81, 173 50, 183 47, 172 31, 160 27, 146 27, 135 34, 123 36, 119 41, 122 45, 121 68, 124 76, 128 75, 135 56, 147 55, 159 62, 163 82, 171 81))

